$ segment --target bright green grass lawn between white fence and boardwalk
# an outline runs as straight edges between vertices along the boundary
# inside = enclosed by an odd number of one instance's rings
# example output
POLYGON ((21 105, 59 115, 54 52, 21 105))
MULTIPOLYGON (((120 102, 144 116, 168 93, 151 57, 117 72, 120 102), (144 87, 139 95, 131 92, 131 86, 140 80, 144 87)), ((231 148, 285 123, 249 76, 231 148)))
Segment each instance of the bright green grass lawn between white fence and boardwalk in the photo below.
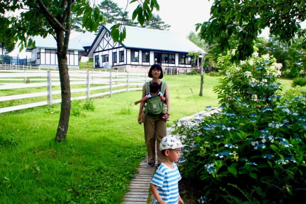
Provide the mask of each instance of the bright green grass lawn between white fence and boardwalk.
MULTIPOLYGON (((218 78, 165 75, 171 123, 218 105, 218 78)), ((290 81, 282 80, 284 87, 290 81)), ((94 99, 95 111, 70 116, 67 140, 56 143, 60 106, 0 115, 0 203, 120 203, 146 155, 139 106, 141 91, 94 99)))

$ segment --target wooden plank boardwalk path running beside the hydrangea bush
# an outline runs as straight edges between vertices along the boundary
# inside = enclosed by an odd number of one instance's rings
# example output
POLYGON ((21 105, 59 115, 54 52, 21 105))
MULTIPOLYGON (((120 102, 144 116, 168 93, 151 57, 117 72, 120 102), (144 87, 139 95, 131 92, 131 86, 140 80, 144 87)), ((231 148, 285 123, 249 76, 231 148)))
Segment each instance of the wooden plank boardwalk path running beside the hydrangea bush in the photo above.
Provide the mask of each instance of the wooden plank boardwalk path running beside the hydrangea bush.
MULTIPOLYGON (((196 113, 194 115, 181 118, 179 121, 181 123, 184 123, 185 125, 186 124, 192 125, 193 123, 191 122, 192 119, 199 117, 202 118, 204 115, 210 115, 217 111, 220 111, 220 109, 215 109, 212 111, 202 111, 200 113, 196 113)), ((167 135, 170 135, 172 131, 173 131, 172 127, 167 127, 167 135)), ((148 158, 146 156, 139 164, 138 173, 135 174, 135 178, 131 181, 131 184, 129 186, 130 191, 128 191, 124 196, 124 201, 123 201, 124 204, 132 204, 132 203, 147 204, 150 183, 154 175, 155 169, 156 169, 155 166, 148 165, 148 158)))

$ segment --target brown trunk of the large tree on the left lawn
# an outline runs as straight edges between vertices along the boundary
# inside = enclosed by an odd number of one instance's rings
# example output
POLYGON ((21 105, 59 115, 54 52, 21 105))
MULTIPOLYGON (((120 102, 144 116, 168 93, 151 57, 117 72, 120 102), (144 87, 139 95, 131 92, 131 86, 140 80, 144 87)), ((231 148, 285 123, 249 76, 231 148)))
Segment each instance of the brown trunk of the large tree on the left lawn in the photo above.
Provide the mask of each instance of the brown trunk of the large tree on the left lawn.
POLYGON ((70 118, 70 80, 68 74, 68 63, 67 63, 67 50, 68 43, 64 41, 69 41, 70 31, 66 32, 64 35, 63 31, 57 32, 57 46, 58 46, 58 64, 59 64, 59 73, 60 73, 60 82, 61 82, 61 114, 60 121, 56 133, 55 140, 57 142, 62 142, 66 139, 68 131, 68 123, 70 118))

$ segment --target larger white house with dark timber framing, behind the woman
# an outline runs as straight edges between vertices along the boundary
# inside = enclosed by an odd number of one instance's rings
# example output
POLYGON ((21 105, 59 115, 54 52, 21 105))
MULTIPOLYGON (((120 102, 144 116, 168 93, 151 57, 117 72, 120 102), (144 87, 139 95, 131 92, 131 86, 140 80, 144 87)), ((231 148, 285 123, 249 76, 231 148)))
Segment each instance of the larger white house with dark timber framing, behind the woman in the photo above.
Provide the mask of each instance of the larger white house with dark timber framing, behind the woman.
POLYGON ((112 24, 107 24, 101 28, 86 53, 87 57, 93 57, 94 68, 111 65, 112 69, 138 68, 146 72, 151 65, 159 63, 163 68, 177 68, 183 73, 201 62, 202 56, 194 60, 187 55, 190 51, 205 53, 179 33, 126 25, 126 38, 119 44, 110 35, 111 27, 112 24))

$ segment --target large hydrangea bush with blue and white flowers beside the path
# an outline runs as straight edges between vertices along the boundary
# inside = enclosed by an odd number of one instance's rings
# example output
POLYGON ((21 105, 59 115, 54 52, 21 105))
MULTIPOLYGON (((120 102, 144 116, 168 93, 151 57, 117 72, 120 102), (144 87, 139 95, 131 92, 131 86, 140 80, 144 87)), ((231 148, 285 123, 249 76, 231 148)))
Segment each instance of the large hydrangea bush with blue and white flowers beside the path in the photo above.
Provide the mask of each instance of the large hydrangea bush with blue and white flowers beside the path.
POLYGON ((282 95, 277 82, 282 64, 268 54, 254 53, 239 64, 230 62, 234 54, 219 59, 226 66, 226 77, 214 88, 219 112, 181 129, 187 145, 182 174, 198 181, 203 194, 213 193, 215 202, 228 183, 252 189, 266 183, 267 192, 287 185, 289 194, 305 188, 303 179, 296 186, 288 181, 303 177, 306 170, 305 92, 282 95), (282 186, 273 183, 275 178, 282 186))

